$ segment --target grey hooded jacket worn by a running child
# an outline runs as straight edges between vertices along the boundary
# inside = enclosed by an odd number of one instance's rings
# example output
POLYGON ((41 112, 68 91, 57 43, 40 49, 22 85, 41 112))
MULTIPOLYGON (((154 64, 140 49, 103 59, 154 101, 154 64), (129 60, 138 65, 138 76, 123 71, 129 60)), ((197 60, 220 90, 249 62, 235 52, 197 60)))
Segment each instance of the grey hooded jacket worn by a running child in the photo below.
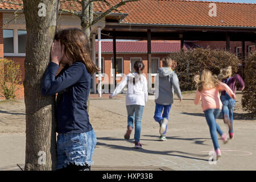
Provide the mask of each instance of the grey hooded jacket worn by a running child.
POLYGON ((182 98, 180 92, 179 79, 177 74, 170 67, 158 69, 158 76, 155 80, 155 102, 160 105, 170 105, 174 103, 174 92, 182 98))

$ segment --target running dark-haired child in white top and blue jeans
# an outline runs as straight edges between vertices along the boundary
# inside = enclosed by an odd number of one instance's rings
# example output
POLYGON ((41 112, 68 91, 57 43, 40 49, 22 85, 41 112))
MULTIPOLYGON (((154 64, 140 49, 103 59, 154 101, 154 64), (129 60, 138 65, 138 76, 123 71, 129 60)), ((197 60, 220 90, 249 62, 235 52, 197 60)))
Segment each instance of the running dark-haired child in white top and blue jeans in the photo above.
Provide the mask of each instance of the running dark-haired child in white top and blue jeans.
POLYGON ((127 86, 126 93, 126 109, 127 109, 127 131, 125 139, 129 140, 131 131, 133 130, 133 122, 135 124, 135 148, 142 148, 140 143, 141 138, 141 119, 144 110, 144 106, 147 102, 147 79, 142 75, 144 64, 142 61, 136 61, 134 63, 135 73, 129 73, 123 81, 115 88, 114 92, 110 94, 109 98, 113 98, 120 93, 123 88, 127 86))

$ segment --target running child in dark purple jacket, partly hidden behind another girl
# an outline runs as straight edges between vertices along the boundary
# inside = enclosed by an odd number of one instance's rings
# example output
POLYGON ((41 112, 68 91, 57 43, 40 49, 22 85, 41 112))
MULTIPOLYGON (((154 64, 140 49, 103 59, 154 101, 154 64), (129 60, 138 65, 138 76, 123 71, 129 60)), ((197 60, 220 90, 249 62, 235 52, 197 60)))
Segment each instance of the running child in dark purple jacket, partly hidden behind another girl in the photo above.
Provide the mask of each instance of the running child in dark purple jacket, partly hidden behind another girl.
MULTIPOLYGON (((222 79, 222 82, 227 84, 230 89, 234 93, 236 93, 236 82, 240 84, 241 90, 245 88, 245 82, 243 82, 243 79, 240 75, 236 74, 232 76, 232 67, 229 66, 227 68, 221 69, 220 78, 222 79)), ((229 95, 225 92, 221 92, 221 102, 222 102, 222 115, 224 119, 224 123, 228 124, 229 126, 229 138, 234 138, 234 129, 233 129, 233 111, 234 107, 236 105, 236 100, 233 98, 230 98, 229 95)))

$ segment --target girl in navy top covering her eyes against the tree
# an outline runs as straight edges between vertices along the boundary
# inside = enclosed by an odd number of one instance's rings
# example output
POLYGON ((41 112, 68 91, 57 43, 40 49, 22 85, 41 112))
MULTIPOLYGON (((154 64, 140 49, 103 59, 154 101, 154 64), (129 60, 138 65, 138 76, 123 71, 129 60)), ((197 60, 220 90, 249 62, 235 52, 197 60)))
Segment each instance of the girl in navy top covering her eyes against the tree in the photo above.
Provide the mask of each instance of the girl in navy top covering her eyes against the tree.
POLYGON ((89 171, 96 135, 89 122, 86 102, 91 75, 98 68, 90 59, 88 38, 79 28, 57 32, 51 48, 42 95, 56 93, 57 169, 89 171), (56 75, 59 64, 64 68, 56 75))

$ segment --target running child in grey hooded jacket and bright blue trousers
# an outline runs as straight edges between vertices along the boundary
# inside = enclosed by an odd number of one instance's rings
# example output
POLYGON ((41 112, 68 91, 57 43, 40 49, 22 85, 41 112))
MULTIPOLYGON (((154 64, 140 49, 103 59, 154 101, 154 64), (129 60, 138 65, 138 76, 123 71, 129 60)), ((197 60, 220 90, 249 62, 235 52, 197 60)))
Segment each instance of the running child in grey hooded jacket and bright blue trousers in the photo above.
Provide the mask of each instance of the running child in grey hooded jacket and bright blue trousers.
POLYGON ((166 131, 168 125, 168 115, 174 103, 174 92, 182 100, 179 79, 171 69, 171 57, 164 57, 163 67, 158 69, 158 77, 155 80, 155 115, 154 119, 160 125, 160 140, 166 140, 166 131), (163 111, 163 114, 162 114, 163 111))

